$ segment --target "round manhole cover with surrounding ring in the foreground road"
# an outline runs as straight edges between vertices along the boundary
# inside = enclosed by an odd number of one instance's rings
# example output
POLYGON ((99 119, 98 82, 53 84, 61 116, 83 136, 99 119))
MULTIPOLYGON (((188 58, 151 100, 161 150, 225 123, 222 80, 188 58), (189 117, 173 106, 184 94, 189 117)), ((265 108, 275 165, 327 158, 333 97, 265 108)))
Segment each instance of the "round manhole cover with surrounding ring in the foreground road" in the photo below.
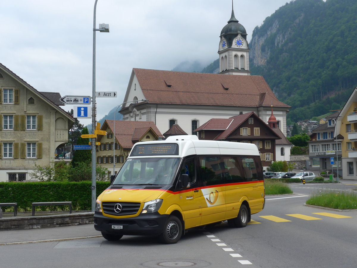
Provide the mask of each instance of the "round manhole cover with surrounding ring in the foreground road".
POLYGON ((168 260, 151 260, 150 262, 144 262, 141 264, 144 267, 150 268, 163 268, 163 267, 190 267, 190 268, 202 268, 211 265, 204 260, 191 260, 191 259, 168 259, 168 260))

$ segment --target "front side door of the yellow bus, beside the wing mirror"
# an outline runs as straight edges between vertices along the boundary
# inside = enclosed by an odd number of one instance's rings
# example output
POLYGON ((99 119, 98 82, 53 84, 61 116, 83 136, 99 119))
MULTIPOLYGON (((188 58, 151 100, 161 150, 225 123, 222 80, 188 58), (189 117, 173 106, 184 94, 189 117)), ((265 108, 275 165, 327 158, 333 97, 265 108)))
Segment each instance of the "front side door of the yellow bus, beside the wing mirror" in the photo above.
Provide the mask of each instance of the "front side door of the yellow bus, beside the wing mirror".
POLYGON ((185 218, 185 228, 191 228, 200 225, 201 221, 201 191, 198 188, 199 182, 197 179, 197 167, 195 158, 187 158, 182 162, 180 168, 181 174, 187 174, 190 182, 190 187, 181 189, 178 192, 178 204, 182 208, 185 218))

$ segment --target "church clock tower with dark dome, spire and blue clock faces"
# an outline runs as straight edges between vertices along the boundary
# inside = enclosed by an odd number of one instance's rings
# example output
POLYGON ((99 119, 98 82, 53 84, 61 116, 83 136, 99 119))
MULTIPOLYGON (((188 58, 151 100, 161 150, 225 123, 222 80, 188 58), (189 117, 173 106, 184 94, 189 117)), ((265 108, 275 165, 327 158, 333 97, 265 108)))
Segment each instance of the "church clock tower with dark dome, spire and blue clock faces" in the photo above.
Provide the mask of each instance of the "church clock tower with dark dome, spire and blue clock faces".
POLYGON ((250 75, 247 31, 234 16, 233 0, 231 18, 223 27, 220 38, 220 74, 250 75))

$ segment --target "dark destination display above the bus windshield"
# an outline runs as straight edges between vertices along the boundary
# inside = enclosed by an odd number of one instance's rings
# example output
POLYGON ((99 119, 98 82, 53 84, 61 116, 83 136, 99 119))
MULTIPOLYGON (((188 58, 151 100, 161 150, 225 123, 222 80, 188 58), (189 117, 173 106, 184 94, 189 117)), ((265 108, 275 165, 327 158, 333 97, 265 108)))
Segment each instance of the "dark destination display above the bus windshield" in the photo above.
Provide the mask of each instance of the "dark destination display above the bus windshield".
POLYGON ((130 156, 178 155, 178 144, 141 144, 135 146, 130 156))

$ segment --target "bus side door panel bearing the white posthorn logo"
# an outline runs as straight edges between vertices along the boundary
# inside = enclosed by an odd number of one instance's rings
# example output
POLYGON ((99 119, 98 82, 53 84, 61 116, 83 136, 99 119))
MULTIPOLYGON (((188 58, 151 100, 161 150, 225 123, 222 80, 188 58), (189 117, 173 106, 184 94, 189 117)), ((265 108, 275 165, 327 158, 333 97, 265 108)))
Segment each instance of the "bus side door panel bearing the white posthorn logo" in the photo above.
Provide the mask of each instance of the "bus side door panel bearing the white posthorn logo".
POLYGON ((218 222, 225 218, 225 177, 228 170, 223 157, 200 157, 202 177, 201 225, 218 222))

